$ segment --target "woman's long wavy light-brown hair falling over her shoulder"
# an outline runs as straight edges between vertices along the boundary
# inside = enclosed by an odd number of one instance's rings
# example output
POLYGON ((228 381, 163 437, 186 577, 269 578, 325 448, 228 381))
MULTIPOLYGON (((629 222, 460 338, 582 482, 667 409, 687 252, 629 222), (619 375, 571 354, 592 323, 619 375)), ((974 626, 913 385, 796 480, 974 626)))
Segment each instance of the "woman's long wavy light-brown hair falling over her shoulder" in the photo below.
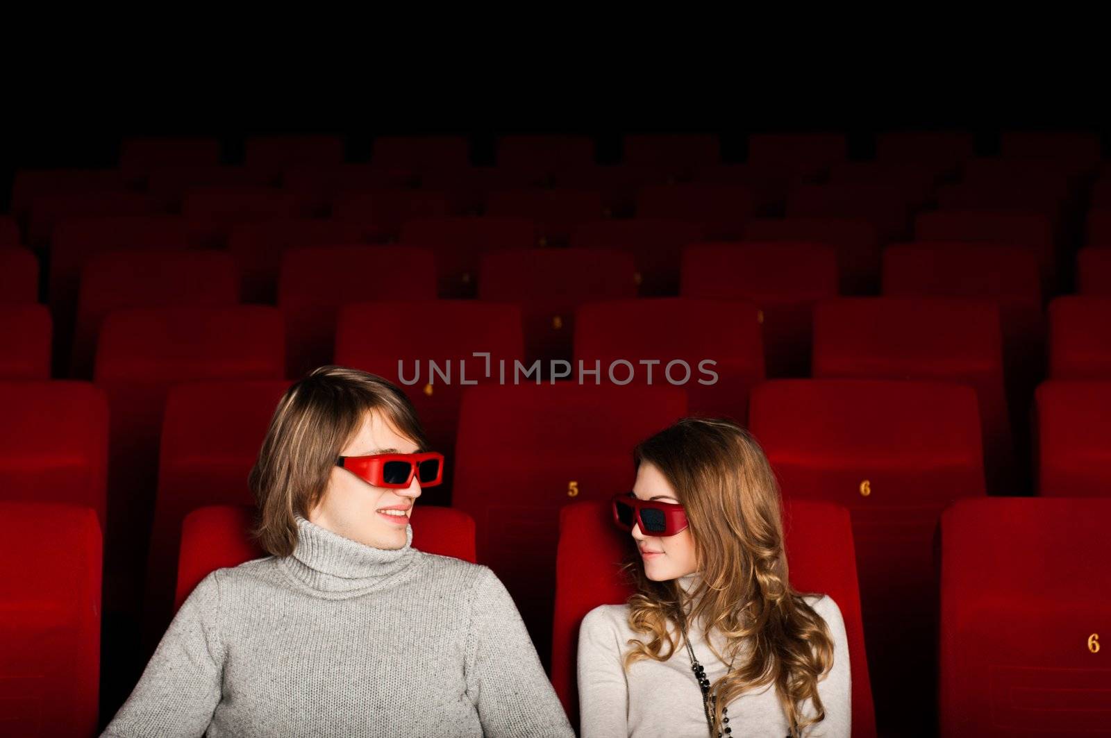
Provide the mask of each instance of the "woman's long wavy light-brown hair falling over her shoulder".
POLYGON ((717 696, 713 732, 722 729, 729 702, 774 682, 791 736, 802 736, 825 717, 818 680, 832 668, 833 639, 788 579, 779 485, 763 450, 730 420, 683 418, 637 446, 634 465, 645 461, 685 508, 701 581, 688 597, 675 580, 648 579, 639 556, 625 564, 637 586, 629 626, 650 637, 629 640, 624 668, 644 658, 665 661, 682 648, 669 620, 701 622, 707 634, 717 628, 725 636, 725 654, 707 642, 723 662, 733 662, 747 640, 751 654, 710 687, 717 696), (809 717, 802 714, 807 699, 814 707, 809 717))

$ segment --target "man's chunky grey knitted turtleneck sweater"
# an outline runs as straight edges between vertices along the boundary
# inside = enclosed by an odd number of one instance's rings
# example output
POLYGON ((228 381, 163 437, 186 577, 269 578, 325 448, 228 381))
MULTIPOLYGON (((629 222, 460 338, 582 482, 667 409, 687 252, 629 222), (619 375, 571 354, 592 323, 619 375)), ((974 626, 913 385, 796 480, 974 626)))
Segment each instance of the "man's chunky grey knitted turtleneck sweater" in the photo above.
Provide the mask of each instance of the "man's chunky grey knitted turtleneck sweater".
POLYGON ((208 575, 102 736, 574 738, 501 580, 406 535, 299 518, 292 556, 208 575))

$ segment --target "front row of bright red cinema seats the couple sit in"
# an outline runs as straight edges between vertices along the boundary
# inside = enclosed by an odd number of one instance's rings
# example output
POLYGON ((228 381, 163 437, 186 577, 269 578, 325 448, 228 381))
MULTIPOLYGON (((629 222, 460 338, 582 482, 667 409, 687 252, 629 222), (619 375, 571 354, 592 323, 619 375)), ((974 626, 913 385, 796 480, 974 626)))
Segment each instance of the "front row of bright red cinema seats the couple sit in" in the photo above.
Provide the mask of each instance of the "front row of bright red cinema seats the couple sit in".
MULTIPOLYGON (((0 632, 11 645, 0 654, 0 670, 6 701, 14 706, 0 725, 4 735, 94 735, 101 658, 96 515, 44 502, 0 502, 0 512, 12 531, 0 543, 0 596, 7 606, 0 632)), ((1100 532, 1109 513, 1107 498, 964 499, 942 511, 939 649, 929 654, 938 660, 941 735, 1104 731, 1109 708, 1101 694, 1111 678, 1100 666, 1105 638, 1100 627, 1111 615, 1111 575, 1100 532)), ((188 516, 176 607, 209 571, 263 555, 246 535, 252 516, 248 506, 204 507, 188 516)), ((800 591, 829 594, 844 618, 853 735, 880 735, 875 680, 869 678, 874 647, 861 618, 850 513, 829 502, 792 501, 785 505, 784 528, 792 584, 800 591)), ((470 517, 449 508, 421 507, 413 517, 413 545, 431 554, 476 561, 473 532, 470 517)), ((550 674, 572 725, 579 717, 579 622, 598 605, 625 600, 631 590, 619 565, 633 555, 604 503, 563 507, 550 674)), ((923 647, 911 641, 903 650, 910 649, 923 647)), ((914 689, 914 681, 900 688, 914 689)))

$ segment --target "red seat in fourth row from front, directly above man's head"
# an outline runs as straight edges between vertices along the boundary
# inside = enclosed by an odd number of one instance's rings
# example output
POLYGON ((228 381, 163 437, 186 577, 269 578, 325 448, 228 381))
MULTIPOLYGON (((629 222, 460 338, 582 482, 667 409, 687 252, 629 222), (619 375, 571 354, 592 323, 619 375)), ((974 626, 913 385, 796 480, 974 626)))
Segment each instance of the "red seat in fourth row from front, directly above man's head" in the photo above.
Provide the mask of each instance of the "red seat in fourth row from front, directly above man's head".
POLYGON ((431 300, 436 259, 408 246, 321 246, 282 255, 278 306, 286 317, 286 376, 331 363, 336 316, 347 302, 431 300))

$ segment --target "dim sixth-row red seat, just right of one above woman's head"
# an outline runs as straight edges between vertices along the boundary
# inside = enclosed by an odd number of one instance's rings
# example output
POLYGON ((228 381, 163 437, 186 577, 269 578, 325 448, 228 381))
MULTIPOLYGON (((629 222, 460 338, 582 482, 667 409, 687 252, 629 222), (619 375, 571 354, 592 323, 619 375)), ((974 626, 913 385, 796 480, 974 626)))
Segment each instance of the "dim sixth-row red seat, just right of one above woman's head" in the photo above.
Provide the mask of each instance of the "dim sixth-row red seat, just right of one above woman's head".
POLYGON ((911 197, 888 183, 799 184, 787 198, 788 218, 860 218, 884 241, 907 237, 911 208, 911 197))

